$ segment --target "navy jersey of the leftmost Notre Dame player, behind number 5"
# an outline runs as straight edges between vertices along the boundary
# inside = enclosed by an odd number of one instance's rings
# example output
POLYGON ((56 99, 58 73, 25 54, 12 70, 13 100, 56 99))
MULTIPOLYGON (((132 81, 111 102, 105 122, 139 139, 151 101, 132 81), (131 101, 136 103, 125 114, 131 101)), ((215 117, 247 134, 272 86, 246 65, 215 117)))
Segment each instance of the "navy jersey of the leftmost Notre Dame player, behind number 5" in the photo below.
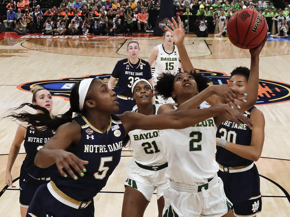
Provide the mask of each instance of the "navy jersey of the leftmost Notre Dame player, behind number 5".
POLYGON ((44 143, 53 136, 50 132, 39 132, 35 126, 27 125, 24 148, 26 157, 21 165, 21 174, 29 174, 35 179, 44 180, 50 176, 50 168, 39 168, 34 165, 37 152, 44 146, 44 143))

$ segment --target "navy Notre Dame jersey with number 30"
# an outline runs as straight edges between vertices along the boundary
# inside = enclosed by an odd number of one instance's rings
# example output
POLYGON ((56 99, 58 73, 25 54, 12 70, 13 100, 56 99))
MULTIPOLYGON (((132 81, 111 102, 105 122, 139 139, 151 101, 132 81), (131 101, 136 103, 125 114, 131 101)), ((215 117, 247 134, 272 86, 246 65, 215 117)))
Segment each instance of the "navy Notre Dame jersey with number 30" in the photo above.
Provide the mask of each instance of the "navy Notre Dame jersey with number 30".
MULTIPOLYGON (((243 114, 250 118, 251 111, 256 108, 253 106, 248 111, 243 114)), ((240 144, 244 146, 251 145, 252 130, 244 124, 244 126, 238 126, 235 122, 225 121, 223 122, 217 130, 216 137, 225 139, 226 141, 240 144)), ((253 163, 253 161, 240 157, 233 152, 226 150, 220 146, 217 146, 217 153, 215 155, 216 161, 225 167, 238 167, 238 166, 248 166, 253 163)))

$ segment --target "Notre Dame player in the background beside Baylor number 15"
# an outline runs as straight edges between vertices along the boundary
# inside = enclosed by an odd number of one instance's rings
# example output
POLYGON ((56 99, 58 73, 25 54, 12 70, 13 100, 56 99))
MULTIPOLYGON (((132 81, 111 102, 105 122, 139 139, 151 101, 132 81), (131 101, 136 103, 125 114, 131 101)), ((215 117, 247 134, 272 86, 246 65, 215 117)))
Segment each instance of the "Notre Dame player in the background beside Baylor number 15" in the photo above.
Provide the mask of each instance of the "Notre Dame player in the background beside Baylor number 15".
POLYGON ((115 65, 115 68, 108 81, 108 87, 112 89, 115 81, 118 83, 114 89, 119 98, 119 111, 117 114, 122 114, 125 111, 132 111, 132 108, 136 105, 136 102, 132 99, 131 87, 135 80, 144 78, 148 80, 152 86, 155 83, 152 79, 151 67, 149 63, 138 57, 139 44, 137 41, 130 41, 127 45, 127 53, 129 58, 119 60, 115 65))

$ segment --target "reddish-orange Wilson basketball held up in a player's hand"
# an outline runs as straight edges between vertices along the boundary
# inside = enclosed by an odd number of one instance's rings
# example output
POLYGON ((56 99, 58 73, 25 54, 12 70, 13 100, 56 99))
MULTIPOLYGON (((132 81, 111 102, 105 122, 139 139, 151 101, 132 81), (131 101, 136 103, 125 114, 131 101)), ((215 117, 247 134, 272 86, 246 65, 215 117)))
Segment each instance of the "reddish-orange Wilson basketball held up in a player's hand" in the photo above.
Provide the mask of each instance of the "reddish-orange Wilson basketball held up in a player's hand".
POLYGON ((268 32, 268 25, 257 10, 246 8, 230 17, 226 31, 231 43, 242 49, 250 49, 262 43, 268 32))

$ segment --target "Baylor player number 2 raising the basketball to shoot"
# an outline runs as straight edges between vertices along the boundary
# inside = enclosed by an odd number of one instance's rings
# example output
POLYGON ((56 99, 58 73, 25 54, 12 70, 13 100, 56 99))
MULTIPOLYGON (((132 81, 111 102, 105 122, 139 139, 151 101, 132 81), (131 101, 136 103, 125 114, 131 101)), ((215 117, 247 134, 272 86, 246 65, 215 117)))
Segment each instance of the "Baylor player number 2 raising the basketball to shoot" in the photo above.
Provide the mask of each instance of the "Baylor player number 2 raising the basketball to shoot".
MULTIPOLYGON (((199 95, 208 95, 207 102, 215 104, 224 102, 219 97, 211 95, 207 81, 201 75, 195 73, 195 69, 185 50, 183 39, 185 31, 181 20, 178 18, 179 26, 172 18, 174 25, 169 21, 175 44, 181 57, 184 71, 193 73, 178 73, 176 76, 162 73, 156 86, 157 94, 164 98, 172 96, 177 106, 164 104, 159 108, 158 114, 168 113, 171 110, 200 107, 203 98, 199 95), (182 49, 180 49, 182 48, 182 49), (208 90, 207 90, 208 89, 208 90), (201 93, 199 93, 201 91, 201 93), (208 93, 207 93, 208 92, 208 93), (196 98, 192 98, 193 96, 196 98), (166 108, 166 107, 167 108, 166 108)), ((243 112, 255 104, 258 95, 259 77, 259 54, 265 44, 264 42, 254 49, 250 49, 251 73, 247 85, 247 100, 239 103, 237 109, 232 111, 243 112)), ((215 85, 213 85, 215 86, 215 85)), ((214 87, 213 87, 214 88, 214 87)), ((215 161, 215 125, 219 126, 226 120, 226 116, 217 115, 206 119, 199 124, 182 130, 164 130, 160 133, 162 148, 166 153, 168 169, 166 176, 170 182, 164 190, 164 216, 174 213, 174 216, 233 216, 230 211, 231 203, 226 198, 223 190, 222 180, 217 176, 218 164, 215 161), (178 139, 177 139, 178 138, 178 139), (172 142, 175 141, 175 142, 172 142)), ((240 127, 243 125, 241 124, 240 127)))

